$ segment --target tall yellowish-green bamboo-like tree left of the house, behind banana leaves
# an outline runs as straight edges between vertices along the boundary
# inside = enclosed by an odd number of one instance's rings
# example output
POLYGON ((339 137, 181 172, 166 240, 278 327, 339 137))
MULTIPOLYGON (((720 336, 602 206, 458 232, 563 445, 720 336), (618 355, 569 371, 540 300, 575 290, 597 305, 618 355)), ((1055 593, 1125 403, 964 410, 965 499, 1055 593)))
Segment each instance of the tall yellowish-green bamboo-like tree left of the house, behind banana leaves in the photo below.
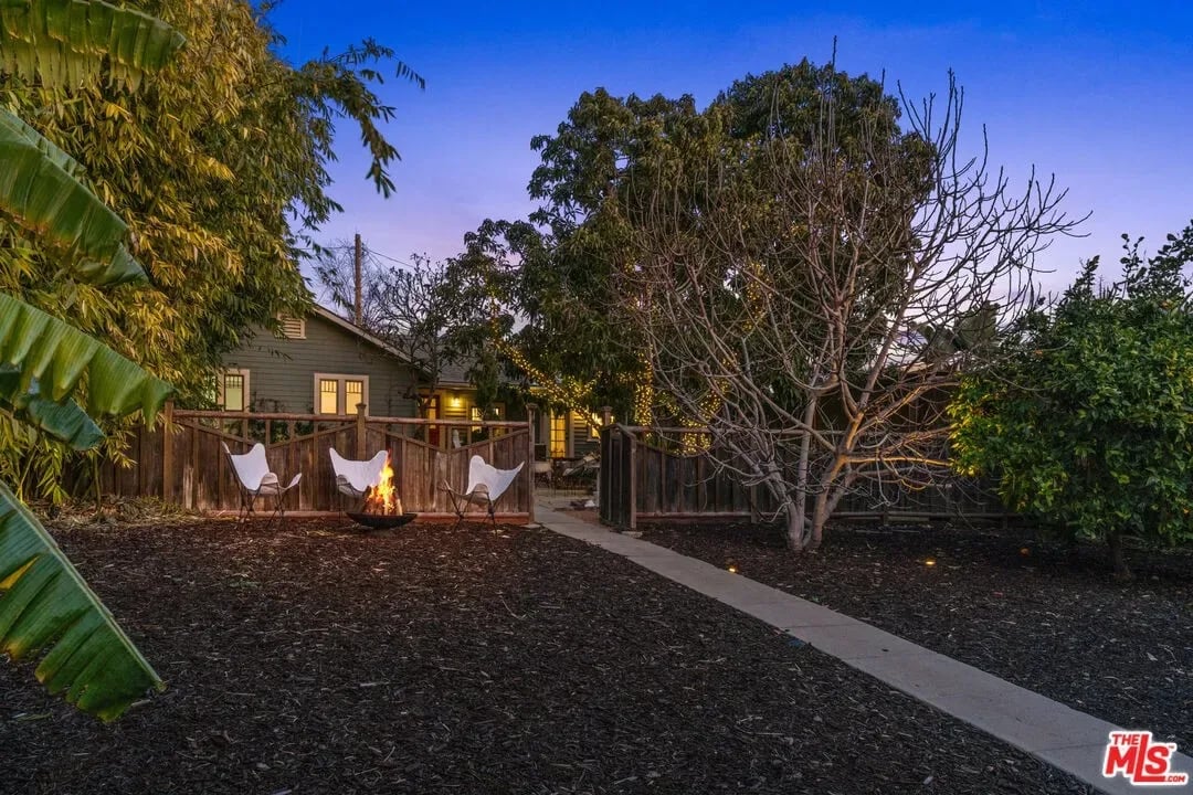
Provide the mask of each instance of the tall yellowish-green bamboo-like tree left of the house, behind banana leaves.
MULTIPOLYGON (((360 130, 367 176, 391 190, 398 154, 381 128, 395 110, 372 87, 394 54, 365 41, 292 66, 245 0, 138 5, 190 42, 141 91, 89 81, 63 101, 60 87, 10 70, 0 75, 0 97, 72 153, 93 192, 128 222, 129 254, 149 282, 80 282, 50 251, 27 244, 19 225, 0 221, 0 290, 69 319, 196 405, 210 399, 222 355, 251 328, 305 311, 296 262, 339 210, 327 173, 338 124, 360 130)), ((422 85, 400 62, 394 72, 422 85)), ((73 456, 19 433, 2 441, 0 472, 39 496, 63 496, 62 464, 73 456)), ((122 435, 110 433, 104 453, 119 460, 120 448, 122 435)))

